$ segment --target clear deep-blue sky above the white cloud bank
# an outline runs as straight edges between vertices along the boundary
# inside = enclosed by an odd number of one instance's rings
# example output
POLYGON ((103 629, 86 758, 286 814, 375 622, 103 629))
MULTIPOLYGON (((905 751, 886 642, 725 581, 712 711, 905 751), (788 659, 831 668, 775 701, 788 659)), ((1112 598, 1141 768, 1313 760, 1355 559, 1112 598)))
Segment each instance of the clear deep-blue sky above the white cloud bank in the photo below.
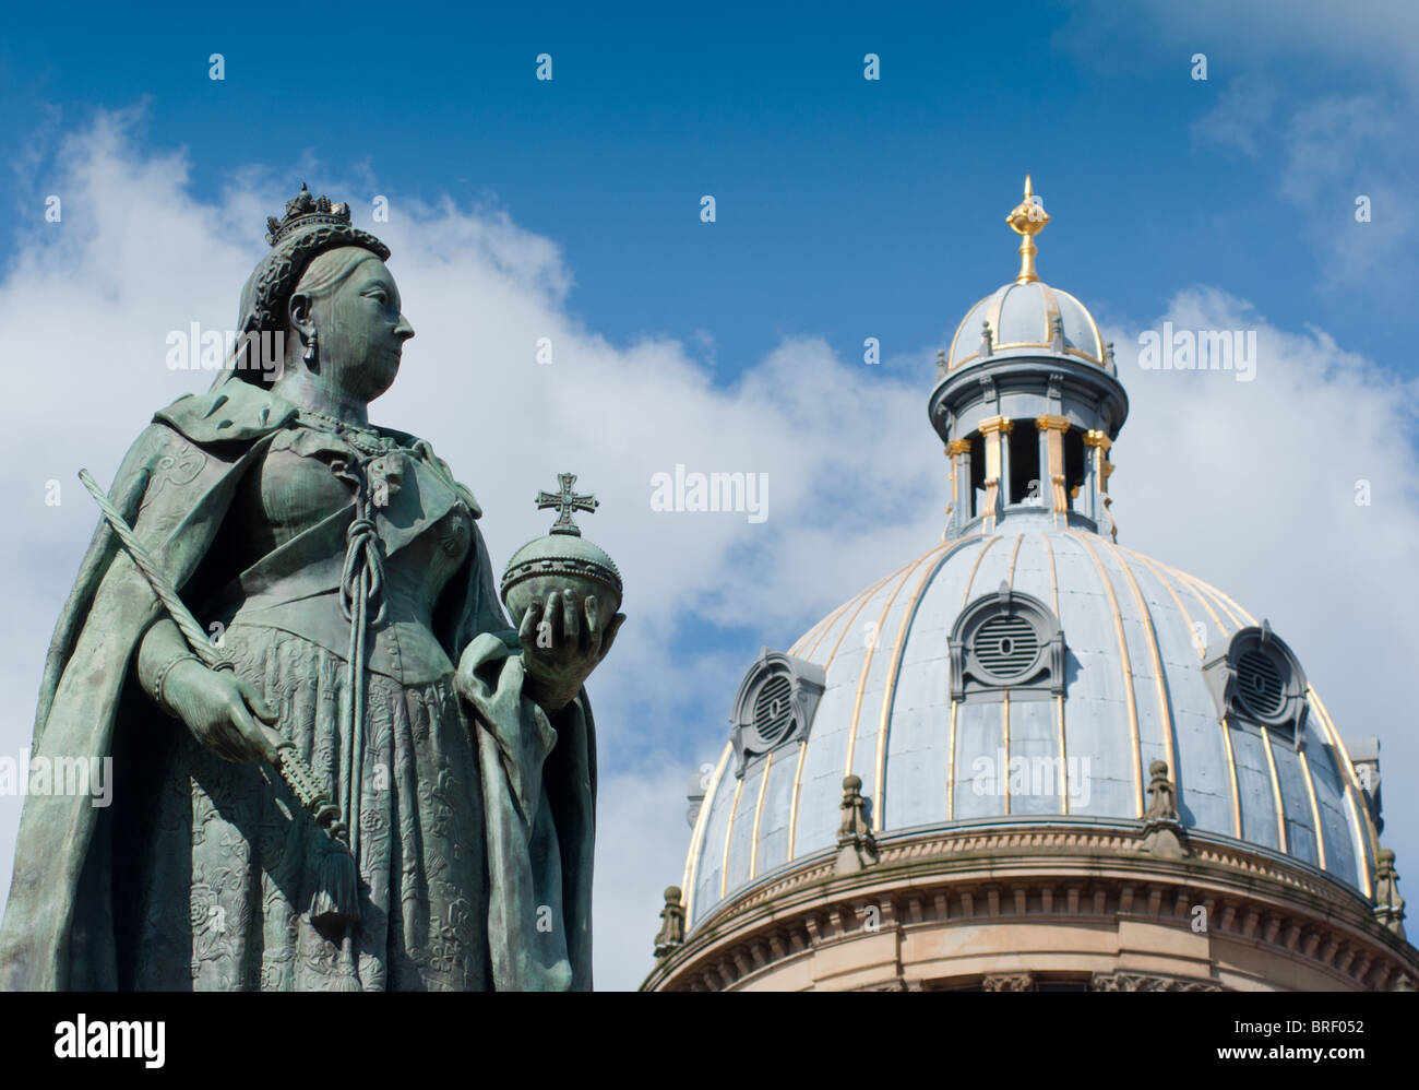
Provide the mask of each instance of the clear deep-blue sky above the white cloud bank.
MULTIPOLYGON (((1338 48, 1273 58, 1226 18, 1169 31, 1147 4, 1130 20, 1094 4, 854 9, 343 4, 298 26, 280 7, 23 9, 3 133, 33 146, 95 105, 146 102, 145 138, 189 149, 199 194, 237 158, 294 176, 311 156, 368 167, 399 197, 491 202, 565 248, 569 302, 607 336, 708 331, 725 375, 803 331, 841 351, 866 335, 888 353, 937 345, 962 299, 1009 271, 1000 219, 1033 172, 1067 209, 1042 274, 1107 314, 1151 315, 1225 268, 1270 319, 1415 366, 1399 324, 1374 321, 1376 301, 1403 299, 1395 278, 1327 282, 1332 254, 1310 221, 1349 221, 1364 246, 1354 194, 1396 182, 1385 170, 1412 149, 1354 156, 1313 207, 1277 193, 1287 106, 1320 89, 1391 102, 1382 70, 1338 48), (207 78, 211 53, 223 82, 207 78), (551 82, 534 78, 539 53, 551 82), (863 79, 866 53, 883 58, 878 82, 863 79), (1206 81, 1191 78, 1193 53, 1206 81), (1254 155, 1195 129, 1237 81, 1280 101, 1254 155)), ((33 207, 40 179, 7 177, 7 204, 33 207)), ((1364 233, 1398 214, 1381 203, 1364 233)), ((1413 264, 1403 253, 1399 268, 1413 264)))

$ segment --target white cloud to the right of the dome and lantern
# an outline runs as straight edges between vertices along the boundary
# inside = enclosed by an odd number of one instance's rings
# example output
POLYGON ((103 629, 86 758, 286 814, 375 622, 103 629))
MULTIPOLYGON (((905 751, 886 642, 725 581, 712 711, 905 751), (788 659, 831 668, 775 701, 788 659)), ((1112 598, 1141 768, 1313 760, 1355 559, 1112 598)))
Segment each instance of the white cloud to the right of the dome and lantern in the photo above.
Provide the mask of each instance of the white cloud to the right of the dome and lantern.
MULTIPOLYGON (((1131 399, 1110 478, 1120 544, 1215 583, 1269 617, 1344 738, 1378 734, 1385 840, 1419 857, 1419 739, 1408 728, 1419 656, 1419 382, 1277 329, 1215 288, 1178 294, 1154 329, 1254 329, 1253 382, 1142 370, 1137 329, 1112 329, 1131 399), (1357 505, 1357 484, 1372 502, 1357 505)), ((1402 870, 1402 867, 1401 867, 1402 870)))

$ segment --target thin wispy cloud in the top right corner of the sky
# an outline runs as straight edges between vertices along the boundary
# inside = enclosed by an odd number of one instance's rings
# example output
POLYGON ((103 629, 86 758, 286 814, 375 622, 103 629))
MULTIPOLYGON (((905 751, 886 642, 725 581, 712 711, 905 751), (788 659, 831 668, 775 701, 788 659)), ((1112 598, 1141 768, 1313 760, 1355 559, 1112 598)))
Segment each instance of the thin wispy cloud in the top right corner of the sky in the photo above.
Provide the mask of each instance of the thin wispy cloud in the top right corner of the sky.
MULTIPOLYGON (((1256 162, 1280 199, 1269 217, 1315 251, 1318 285, 1358 305, 1403 311, 1419 274, 1419 224, 1409 214, 1419 153, 1419 6, 1389 0, 1078 0, 1056 41, 1080 64, 1118 64, 1191 79, 1193 53, 1209 57, 1216 104, 1193 139, 1256 162), (1369 221, 1355 219, 1369 199, 1369 221)), ((1212 99, 1206 84, 1199 102, 1212 99)), ((1229 169, 1219 163, 1218 169, 1229 169)))

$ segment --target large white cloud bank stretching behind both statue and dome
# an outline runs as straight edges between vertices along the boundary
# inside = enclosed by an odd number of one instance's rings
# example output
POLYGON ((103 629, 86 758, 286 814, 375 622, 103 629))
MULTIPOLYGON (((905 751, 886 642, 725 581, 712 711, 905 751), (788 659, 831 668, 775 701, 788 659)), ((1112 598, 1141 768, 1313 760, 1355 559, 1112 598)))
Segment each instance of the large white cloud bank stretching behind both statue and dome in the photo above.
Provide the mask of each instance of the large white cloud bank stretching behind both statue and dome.
MULTIPOLYGON (((18 515, 0 571, 11 606, 0 754, 28 739, 44 643, 94 528, 74 471, 85 464, 106 481, 155 409, 206 385, 165 368, 166 332, 233 321, 264 216, 291 189, 284 173, 277 182, 247 165, 219 202, 199 200, 180 156, 136 149, 114 118, 65 142, 57 177, 62 224, 28 234, 0 280, 9 358, 24 362, 11 368, 6 413, 23 454, 0 467, 18 515), (43 502, 50 478, 65 487, 58 508, 43 502)), ((373 193, 307 180, 368 220, 373 193)), ((389 196, 377 233, 417 336, 372 416, 430 439, 474 490, 495 565, 545 532, 532 494, 579 473, 603 504, 582 525, 626 576, 630 622, 590 684, 602 737, 595 930, 599 986, 634 986, 650 968, 661 891, 680 880, 685 782, 718 756, 741 671, 761 643, 786 647, 939 539, 945 466, 925 414, 934 360, 922 353, 901 380, 790 339, 717 385, 675 341, 613 345, 572 316, 575 278, 559 248, 511 213, 389 196), (534 362, 542 336, 551 366, 534 362), (651 511, 651 474, 677 463, 768 473, 768 521, 651 511)), ((1249 385, 1125 373, 1132 419, 1112 478, 1122 541, 1270 616, 1342 730, 1384 737, 1402 867, 1419 853, 1419 792, 1405 789, 1415 742, 1401 728, 1419 651, 1402 582, 1419 529, 1419 467, 1405 441, 1413 389, 1324 334, 1271 329, 1219 292, 1181 295, 1165 316, 1260 326, 1260 370, 1249 385), (1369 508, 1354 507, 1357 477, 1374 484, 1369 508)), ((1127 346, 1132 332, 1114 339, 1127 346)), ((1127 351, 1120 360, 1127 370, 1127 351)), ((0 799, 0 891, 18 810, 0 799)))

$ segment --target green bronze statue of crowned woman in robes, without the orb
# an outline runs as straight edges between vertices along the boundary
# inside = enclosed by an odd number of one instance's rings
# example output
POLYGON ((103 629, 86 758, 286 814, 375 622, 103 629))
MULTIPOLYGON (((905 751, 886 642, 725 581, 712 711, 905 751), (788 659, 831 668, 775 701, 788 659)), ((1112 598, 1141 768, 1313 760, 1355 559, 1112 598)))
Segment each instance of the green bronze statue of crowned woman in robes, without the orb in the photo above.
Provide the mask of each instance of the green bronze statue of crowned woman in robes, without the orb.
POLYGON ((369 423, 387 247, 304 186, 270 224, 237 353, 280 366, 153 416, 55 626, 33 749, 112 756, 114 802, 27 798, 0 986, 589 989, 582 683, 624 616, 562 582, 508 622, 473 492, 369 423))

